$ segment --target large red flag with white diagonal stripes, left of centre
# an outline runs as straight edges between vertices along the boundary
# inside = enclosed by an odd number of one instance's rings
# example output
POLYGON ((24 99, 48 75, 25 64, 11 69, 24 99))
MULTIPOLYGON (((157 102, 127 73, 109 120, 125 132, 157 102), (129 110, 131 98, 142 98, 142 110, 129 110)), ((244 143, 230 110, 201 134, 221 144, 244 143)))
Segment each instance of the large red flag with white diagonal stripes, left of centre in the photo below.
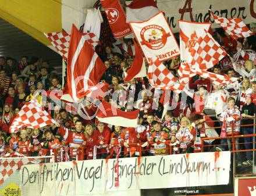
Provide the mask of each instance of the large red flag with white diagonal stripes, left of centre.
POLYGON ((67 59, 67 85, 75 102, 101 88, 98 84, 106 66, 82 33, 73 25, 67 59))

